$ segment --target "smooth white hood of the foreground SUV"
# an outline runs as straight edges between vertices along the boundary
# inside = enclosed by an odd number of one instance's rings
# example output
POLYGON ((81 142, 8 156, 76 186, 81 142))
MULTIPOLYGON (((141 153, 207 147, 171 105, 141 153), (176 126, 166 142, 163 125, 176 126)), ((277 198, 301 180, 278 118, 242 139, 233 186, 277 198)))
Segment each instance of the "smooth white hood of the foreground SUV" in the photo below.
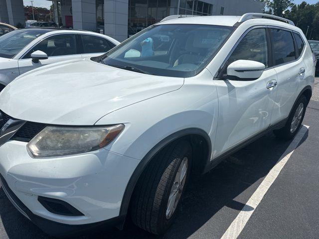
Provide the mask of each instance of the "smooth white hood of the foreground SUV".
POLYGON ((93 125, 113 111, 177 90, 183 82, 183 78, 136 73, 90 59, 73 60, 16 78, 0 93, 0 109, 16 119, 93 125))

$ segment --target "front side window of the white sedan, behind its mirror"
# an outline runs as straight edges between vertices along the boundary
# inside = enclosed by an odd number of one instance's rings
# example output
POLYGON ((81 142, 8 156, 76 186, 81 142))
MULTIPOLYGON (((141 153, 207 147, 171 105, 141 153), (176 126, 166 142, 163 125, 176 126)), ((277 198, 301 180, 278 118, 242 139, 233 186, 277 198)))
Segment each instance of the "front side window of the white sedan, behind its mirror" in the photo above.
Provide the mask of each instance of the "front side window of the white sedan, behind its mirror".
POLYGON ((48 57, 77 54, 75 35, 61 34, 48 37, 34 46, 23 59, 31 58, 31 53, 37 50, 45 52, 48 57))

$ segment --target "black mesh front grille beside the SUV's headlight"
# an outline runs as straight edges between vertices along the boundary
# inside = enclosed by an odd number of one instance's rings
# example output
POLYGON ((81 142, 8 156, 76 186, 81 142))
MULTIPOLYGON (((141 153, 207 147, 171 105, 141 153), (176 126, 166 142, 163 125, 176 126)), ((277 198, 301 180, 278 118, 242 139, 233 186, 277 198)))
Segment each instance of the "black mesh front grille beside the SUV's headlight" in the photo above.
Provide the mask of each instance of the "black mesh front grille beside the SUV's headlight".
MULTIPOLYGON (((0 111, 2 120, 0 120, 0 128, 9 120, 14 119, 4 112, 0 111)), ((29 142, 35 135, 37 135, 47 124, 27 121, 23 126, 12 136, 11 139, 23 142, 29 142)))

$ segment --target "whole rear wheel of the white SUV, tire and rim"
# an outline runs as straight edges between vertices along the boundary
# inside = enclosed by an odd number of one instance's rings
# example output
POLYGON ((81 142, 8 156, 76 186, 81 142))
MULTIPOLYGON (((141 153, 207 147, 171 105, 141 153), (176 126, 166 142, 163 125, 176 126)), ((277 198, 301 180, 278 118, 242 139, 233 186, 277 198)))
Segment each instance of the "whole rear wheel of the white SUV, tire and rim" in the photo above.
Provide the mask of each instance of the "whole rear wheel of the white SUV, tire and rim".
POLYGON ((307 98, 302 95, 290 113, 290 116, 283 128, 274 130, 276 136, 284 139, 293 138, 305 117, 307 107, 307 98))

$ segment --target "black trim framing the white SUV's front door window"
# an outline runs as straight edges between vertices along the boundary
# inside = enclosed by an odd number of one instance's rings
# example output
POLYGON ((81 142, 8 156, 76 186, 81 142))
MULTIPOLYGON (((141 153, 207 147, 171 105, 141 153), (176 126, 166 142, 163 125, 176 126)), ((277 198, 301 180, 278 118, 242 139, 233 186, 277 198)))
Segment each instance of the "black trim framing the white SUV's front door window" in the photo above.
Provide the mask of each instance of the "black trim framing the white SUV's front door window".
POLYGON ((270 36, 269 36, 269 32, 267 30, 268 25, 256 25, 256 26, 252 26, 250 28, 248 28, 237 40, 237 42, 235 43, 235 45, 233 46, 233 48, 230 50, 230 52, 228 53, 227 57, 225 58, 225 60, 223 61, 223 63, 221 64, 221 66, 219 67, 218 71, 216 72, 213 80, 222 80, 225 81, 225 79, 223 79, 220 74, 222 73, 222 70, 225 66, 225 64, 227 63, 229 57, 233 54, 234 50, 236 49, 236 47, 238 46, 238 44, 241 42, 241 40, 252 30, 254 29, 259 29, 259 28, 264 28, 266 31, 266 37, 267 37, 267 50, 268 50, 268 67, 265 68, 265 70, 271 69, 272 68, 272 48, 271 48, 271 43, 270 43, 270 36))

